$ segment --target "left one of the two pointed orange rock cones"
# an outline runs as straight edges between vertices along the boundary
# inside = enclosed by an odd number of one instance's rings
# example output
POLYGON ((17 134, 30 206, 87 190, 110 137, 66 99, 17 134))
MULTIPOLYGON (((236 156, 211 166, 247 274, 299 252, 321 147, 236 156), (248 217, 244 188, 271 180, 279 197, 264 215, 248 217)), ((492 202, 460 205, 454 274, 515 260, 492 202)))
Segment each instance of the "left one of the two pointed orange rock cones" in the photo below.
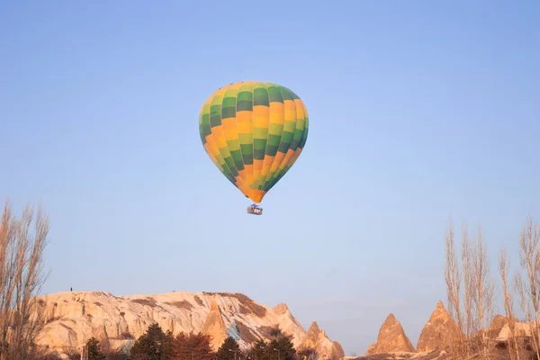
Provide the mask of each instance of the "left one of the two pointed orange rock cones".
POLYGON ((391 313, 384 320, 377 342, 367 348, 365 356, 382 353, 394 352, 415 352, 414 347, 410 343, 409 338, 405 335, 405 331, 401 327, 400 321, 396 320, 391 313))

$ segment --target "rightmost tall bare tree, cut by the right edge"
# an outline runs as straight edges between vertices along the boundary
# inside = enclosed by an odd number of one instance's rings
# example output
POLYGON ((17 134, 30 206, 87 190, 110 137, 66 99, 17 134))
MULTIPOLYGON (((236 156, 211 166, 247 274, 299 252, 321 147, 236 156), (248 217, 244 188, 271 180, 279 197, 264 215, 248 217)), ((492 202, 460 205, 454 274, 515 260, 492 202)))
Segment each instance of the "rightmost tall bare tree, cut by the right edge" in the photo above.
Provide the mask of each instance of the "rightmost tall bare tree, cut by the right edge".
POLYGON ((516 288, 521 300, 521 310, 527 316, 531 329, 533 346, 536 358, 540 360, 540 347, 538 346, 538 310, 540 303, 540 227, 529 215, 527 224, 521 231, 519 239, 519 262, 527 276, 524 280, 521 274, 516 275, 516 288), (527 284, 524 284, 527 281, 527 284))

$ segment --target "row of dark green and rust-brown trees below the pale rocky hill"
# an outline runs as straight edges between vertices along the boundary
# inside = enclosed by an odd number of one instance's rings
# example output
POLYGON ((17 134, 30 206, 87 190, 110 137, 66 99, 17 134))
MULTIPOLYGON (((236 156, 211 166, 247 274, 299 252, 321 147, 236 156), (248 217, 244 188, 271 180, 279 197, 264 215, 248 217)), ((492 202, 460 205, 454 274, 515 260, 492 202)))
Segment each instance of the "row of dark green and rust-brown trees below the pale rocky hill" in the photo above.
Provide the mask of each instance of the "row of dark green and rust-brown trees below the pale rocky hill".
MULTIPOLYGON (((102 349, 95 338, 86 341, 85 352, 88 360, 315 360, 319 358, 311 348, 297 352, 291 338, 285 336, 280 329, 274 329, 272 333, 269 342, 260 339, 247 350, 242 350, 234 338, 228 337, 214 352, 209 335, 181 332, 173 336, 171 331, 164 332, 157 324, 152 324, 134 342, 129 354, 119 350, 102 349)), ((80 352, 72 351, 69 354, 70 360, 80 360, 80 358, 80 352)), ((43 360, 56 360, 56 357, 47 356, 43 360)))

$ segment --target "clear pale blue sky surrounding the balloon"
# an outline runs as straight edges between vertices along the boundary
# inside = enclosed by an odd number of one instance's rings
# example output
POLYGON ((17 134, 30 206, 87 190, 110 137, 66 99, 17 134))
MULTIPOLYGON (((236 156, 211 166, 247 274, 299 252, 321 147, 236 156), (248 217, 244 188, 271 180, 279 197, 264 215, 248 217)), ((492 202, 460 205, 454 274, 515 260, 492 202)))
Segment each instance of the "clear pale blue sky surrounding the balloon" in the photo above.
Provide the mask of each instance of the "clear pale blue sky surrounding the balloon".
POLYGON ((537 1, 0 4, 0 195, 50 217, 44 293, 246 293, 364 354, 416 346, 446 222, 491 264, 540 220, 537 1), (265 214, 213 166, 198 113, 240 80, 310 112, 265 214))

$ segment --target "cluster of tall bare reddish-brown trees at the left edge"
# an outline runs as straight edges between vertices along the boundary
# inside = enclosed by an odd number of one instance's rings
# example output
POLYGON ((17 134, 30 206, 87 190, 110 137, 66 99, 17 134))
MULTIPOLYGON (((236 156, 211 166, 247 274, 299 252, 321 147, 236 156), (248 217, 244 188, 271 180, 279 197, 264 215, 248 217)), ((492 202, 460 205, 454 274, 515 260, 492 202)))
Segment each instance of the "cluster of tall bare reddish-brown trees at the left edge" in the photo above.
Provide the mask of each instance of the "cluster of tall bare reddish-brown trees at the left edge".
POLYGON ((42 258, 48 233, 49 220, 40 207, 34 214, 27 205, 17 219, 5 202, 0 220, 0 360, 27 359, 35 353, 43 324, 35 296, 47 277, 42 258))

